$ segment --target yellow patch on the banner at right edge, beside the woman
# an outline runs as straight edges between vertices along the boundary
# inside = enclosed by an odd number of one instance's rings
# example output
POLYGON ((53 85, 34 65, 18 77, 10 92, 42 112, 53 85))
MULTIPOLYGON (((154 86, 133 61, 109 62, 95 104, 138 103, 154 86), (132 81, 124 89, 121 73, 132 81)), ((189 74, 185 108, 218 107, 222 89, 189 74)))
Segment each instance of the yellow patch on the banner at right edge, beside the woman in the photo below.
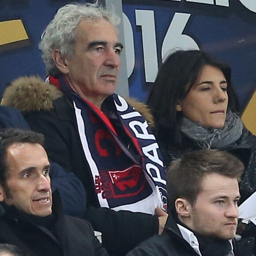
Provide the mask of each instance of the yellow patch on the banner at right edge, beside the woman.
POLYGON ((252 95, 250 102, 248 103, 243 115, 242 121, 245 127, 256 135, 256 92, 252 95))

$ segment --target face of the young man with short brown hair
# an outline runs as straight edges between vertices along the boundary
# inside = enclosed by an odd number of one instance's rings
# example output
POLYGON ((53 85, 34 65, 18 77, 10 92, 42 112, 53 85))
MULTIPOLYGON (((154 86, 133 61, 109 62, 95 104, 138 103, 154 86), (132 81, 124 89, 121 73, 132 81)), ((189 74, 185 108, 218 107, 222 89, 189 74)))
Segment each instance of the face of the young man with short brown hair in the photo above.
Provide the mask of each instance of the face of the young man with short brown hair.
POLYGON ((187 226, 206 237, 232 239, 237 230, 239 198, 236 178, 207 174, 196 203, 191 207, 187 226))

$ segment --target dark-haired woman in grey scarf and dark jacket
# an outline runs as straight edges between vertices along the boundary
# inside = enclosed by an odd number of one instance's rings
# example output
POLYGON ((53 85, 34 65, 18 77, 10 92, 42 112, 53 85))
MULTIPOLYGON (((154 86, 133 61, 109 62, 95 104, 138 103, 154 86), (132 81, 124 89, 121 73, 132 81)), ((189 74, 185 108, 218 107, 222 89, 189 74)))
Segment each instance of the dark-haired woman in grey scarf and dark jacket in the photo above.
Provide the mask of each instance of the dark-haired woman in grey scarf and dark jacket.
POLYGON ((166 166, 184 151, 231 151, 246 166, 241 201, 256 191, 256 137, 238 116, 231 69, 200 50, 170 54, 158 71, 147 104, 166 166))

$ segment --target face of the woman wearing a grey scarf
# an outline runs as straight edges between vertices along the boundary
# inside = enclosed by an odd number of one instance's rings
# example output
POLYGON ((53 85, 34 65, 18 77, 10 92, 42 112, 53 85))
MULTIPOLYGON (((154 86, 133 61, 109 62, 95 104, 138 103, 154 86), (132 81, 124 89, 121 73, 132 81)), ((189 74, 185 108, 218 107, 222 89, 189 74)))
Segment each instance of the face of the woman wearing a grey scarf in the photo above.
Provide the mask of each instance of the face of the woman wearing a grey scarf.
POLYGON ((222 71, 211 65, 202 68, 199 81, 178 102, 177 111, 205 128, 222 128, 228 106, 227 82, 222 71))

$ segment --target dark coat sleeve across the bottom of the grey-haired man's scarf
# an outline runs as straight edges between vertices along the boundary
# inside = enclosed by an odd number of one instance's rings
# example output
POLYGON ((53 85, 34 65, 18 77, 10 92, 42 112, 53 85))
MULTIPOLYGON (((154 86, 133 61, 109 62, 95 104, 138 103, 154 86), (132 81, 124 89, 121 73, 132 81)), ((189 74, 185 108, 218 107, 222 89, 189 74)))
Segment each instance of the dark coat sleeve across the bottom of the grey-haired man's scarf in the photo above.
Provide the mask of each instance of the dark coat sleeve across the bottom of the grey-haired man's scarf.
POLYGON ((87 208, 87 220, 102 232, 103 245, 110 255, 124 255, 139 242, 158 233, 158 217, 108 208, 87 208))

